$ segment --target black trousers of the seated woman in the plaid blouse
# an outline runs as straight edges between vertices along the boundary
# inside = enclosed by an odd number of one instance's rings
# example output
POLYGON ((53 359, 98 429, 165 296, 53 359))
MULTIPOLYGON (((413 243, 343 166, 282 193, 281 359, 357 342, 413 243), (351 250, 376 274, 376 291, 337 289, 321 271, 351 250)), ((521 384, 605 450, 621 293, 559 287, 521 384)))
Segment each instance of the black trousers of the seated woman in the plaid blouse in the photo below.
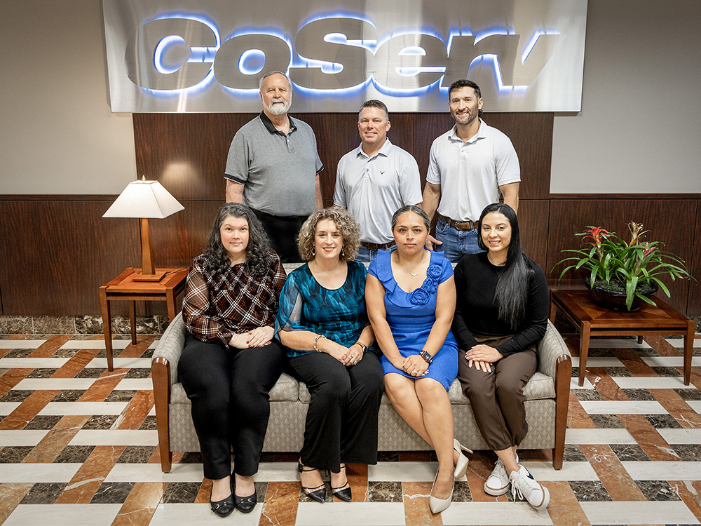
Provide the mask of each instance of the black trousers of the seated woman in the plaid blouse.
POLYGON ((234 472, 258 472, 268 429, 273 389, 285 364, 285 348, 271 344, 235 349, 186 335, 178 375, 192 403, 205 477, 218 480, 234 472))

